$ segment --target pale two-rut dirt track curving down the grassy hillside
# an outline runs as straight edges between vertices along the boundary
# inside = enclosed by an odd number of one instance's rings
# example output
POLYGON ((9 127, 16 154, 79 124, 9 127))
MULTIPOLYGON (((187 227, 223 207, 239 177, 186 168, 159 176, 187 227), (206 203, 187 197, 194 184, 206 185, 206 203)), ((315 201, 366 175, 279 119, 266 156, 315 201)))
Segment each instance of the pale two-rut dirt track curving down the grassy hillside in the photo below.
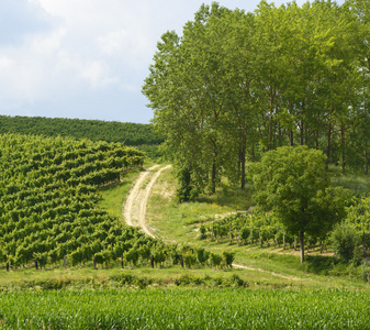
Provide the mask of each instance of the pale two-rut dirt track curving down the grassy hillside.
MULTIPOLYGON (((143 231, 150 235, 152 238, 156 238, 154 230, 148 227, 147 221, 145 220, 146 217, 146 206, 148 204, 148 199, 150 196, 152 188, 156 183, 157 178, 159 177, 160 173, 171 165, 167 165, 160 167, 159 165, 154 165, 145 170, 143 170, 139 176, 137 177, 133 188, 131 189, 126 202, 123 209, 123 217, 125 222, 128 226, 141 227, 143 231)), ((257 271, 261 273, 271 274, 277 277, 281 277, 284 279, 292 279, 292 280, 300 280, 305 278, 300 278, 291 275, 282 275, 270 271, 265 271, 261 268, 255 268, 250 266, 233 264, 233 267, 239 270, 249 270, 249 271, 257 271)))

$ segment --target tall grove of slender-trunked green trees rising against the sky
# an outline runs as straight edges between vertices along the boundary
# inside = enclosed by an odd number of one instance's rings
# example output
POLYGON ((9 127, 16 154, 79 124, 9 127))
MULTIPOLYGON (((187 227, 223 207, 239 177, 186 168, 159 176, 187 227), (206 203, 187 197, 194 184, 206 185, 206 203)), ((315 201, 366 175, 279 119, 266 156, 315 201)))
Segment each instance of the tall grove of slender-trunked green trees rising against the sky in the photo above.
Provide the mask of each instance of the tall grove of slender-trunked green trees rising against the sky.
POLYGON ((245 186, 246 162, 283 145, 368 173, 368 0, 261 1, 253 13, 202 6, 158 42, 143 87, 180 180, 245 186))

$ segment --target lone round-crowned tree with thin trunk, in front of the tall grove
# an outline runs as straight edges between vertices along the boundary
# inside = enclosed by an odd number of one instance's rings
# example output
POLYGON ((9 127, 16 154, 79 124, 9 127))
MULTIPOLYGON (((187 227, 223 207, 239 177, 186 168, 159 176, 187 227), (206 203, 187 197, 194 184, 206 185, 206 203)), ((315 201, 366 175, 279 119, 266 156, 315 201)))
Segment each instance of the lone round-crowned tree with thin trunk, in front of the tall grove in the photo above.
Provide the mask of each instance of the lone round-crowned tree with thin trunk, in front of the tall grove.
POLYGON ((304 233, 317 237, 329 231, 345 216, 349 191, 330 188, 326 157, 306 146, 283 146, 267 152, 254 165, 256 202, 273 210, 287 230, 299 234, 301 263, 304 233))

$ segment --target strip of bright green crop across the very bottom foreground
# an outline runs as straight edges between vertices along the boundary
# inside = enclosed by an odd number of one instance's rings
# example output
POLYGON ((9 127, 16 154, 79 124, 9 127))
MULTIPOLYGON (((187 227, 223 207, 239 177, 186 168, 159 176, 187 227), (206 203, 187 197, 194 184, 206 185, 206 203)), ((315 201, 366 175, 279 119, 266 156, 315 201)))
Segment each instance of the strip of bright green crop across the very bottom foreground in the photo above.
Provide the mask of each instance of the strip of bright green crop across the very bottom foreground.
POLYGON ((368 329, 370 294, 145 289, 0 295, 2 329, 368 329))

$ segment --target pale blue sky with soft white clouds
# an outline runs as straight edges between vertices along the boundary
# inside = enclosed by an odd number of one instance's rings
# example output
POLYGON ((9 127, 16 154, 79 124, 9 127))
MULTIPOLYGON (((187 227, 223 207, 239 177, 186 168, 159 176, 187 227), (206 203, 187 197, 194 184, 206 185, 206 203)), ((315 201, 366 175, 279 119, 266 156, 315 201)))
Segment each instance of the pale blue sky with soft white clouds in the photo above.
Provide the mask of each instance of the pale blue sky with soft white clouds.
MULTIPOLYGON (((253 12, 259 0, 217 2, 253 12)), ((157 42, 202 3, 0 0, 0 114, 148 123, 142 86, 157 42)))

